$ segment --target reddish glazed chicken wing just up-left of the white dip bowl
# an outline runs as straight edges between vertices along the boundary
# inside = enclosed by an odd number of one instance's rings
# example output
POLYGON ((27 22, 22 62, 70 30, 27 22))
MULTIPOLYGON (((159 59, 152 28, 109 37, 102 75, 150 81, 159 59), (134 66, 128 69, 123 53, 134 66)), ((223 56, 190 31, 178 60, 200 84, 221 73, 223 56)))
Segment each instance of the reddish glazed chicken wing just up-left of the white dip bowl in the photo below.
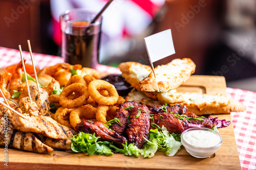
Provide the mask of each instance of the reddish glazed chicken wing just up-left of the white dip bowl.
MULTIPOLYGON (((153 123, 157 124, 160 128, 164 126, 169 133, 180 134, 186 129, 188 124, 185 117, 182 120, 173 113, 162 112, 154 114, 152 117, 153 123)), ((152 128, 155 129, 155 127, 152 128)))

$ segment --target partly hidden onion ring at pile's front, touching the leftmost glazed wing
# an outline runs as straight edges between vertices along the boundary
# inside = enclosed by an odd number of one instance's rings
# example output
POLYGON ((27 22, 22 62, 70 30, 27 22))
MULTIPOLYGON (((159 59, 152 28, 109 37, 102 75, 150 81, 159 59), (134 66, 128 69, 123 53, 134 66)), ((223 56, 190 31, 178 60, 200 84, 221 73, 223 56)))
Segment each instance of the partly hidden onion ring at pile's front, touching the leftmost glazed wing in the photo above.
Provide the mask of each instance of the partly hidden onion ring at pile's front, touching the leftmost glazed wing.
POLYGON ((73 109, 70 113, 70 124, 75 129, 76 125, 81 122, 81 119, 95 118, 97 108, 92 105, 84 105, 73 109))

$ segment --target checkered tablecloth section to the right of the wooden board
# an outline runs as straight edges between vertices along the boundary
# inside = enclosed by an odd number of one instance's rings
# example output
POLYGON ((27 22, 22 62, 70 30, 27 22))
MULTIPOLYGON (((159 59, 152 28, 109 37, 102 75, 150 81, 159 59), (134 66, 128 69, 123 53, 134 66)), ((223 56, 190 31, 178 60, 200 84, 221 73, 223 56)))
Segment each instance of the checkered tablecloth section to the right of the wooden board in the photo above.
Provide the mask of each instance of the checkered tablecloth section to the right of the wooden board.
POLYGON ((231 113, 242 169, 256 169, 256 92, 227 88, 227 96, 246 106, 231 113))

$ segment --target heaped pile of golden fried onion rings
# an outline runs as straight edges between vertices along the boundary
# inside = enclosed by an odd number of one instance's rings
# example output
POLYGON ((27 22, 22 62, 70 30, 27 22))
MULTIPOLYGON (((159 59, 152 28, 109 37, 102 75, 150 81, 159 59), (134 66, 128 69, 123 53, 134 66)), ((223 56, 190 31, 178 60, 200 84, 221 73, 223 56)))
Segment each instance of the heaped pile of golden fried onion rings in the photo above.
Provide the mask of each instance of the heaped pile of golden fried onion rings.
POLYGON ((72 76, 60 95, 52 94, 49 100, 50 104, 61 106, 53 118, 73 129, 82 119, 106 123, 125 102, 112 84, 98 80, 94 75, 72 76))

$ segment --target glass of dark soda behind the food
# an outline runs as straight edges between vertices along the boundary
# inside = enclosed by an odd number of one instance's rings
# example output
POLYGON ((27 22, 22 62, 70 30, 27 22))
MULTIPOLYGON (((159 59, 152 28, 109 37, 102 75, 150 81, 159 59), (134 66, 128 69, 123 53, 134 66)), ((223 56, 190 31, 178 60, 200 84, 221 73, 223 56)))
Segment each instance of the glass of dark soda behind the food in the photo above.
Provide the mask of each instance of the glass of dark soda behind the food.
POLYGON ((62 30, 61 56, 65 62, 96 68, 99 58, 101 23, 72 21, 62 30))

